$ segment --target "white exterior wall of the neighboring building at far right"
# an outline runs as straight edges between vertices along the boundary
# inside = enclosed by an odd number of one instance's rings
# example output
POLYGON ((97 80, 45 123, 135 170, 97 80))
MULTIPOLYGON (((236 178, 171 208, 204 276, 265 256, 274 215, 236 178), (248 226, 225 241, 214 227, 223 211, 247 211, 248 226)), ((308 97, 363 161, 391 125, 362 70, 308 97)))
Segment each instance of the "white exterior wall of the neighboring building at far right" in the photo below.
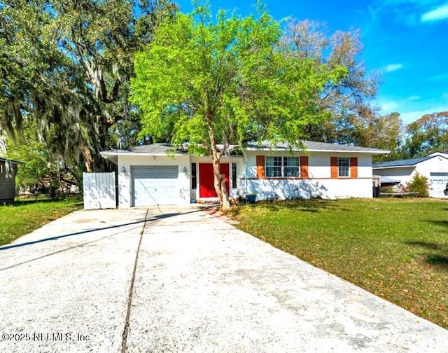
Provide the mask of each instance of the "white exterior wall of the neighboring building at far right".
MULTIPOLYGON (((407 185, 411 181, 415 174, 418 172, 423 177, 431 179, 431 173, 448 173, 448 159, 444 158, 444 153, 437 153, 435 158, 430 158, 420 162, 412 167, 390 167, 390 168, 375 168, 374 174, 384 175, 390 177, 391 179, 400 180, 401 184, 407 185)), ((447 178, 441 177, 441 180, 446 180, 447 178)), ((429 195, 432 198, 444 198, 442 191, 445 185, 443 184, 430 184, 429 195)))

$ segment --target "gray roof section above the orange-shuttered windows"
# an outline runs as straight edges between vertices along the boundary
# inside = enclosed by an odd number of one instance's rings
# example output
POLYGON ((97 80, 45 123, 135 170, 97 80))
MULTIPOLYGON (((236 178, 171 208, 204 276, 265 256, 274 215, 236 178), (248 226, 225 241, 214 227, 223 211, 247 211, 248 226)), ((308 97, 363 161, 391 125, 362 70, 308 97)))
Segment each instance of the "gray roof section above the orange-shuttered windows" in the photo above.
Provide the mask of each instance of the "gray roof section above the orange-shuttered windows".
MULTIPOLYGON (((385 154, 390 151, 381 150, 378 148, 367 148, 367 147, 358 147, 358 146, 349 146, 342 144, 327 144, 325 142, 316 142, 316 141, 302 141, 304 145, 305 151, 310 152, 358 152, 358 153, 371 153, 371 154, 385 154)), ((262 141, 260 144, 258 142, 249 142, 247 144, 248 150, 257 150, 257 149, 271 149, 271 150, 289 150, 290 144, 287 143, 279 143, 272 144, 270 141, 262 141)), ((291 148, 293 151, 302 151, 302 148, 293 147, 291 148)))

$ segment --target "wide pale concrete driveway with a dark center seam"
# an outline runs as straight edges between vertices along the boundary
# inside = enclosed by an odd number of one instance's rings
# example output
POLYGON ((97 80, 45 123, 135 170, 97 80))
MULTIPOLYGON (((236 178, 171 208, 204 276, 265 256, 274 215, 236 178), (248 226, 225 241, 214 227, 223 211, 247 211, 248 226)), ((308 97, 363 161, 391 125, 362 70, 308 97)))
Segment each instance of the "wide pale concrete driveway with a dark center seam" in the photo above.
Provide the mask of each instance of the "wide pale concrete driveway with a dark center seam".
POLYGON ((447 352, 448 331, 198 209, 80 211, 0 247, 0 352, 447 352))

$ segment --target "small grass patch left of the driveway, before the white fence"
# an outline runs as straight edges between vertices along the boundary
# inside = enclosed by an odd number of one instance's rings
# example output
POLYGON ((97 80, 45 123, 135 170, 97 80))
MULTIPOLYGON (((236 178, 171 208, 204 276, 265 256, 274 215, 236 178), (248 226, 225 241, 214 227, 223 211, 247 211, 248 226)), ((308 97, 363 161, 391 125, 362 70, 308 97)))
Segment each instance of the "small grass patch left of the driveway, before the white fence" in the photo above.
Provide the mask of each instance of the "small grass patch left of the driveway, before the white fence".
POLYGON ((0 206, 0 245, 32 232, 45 223, 82 209, 81 198, 65 200, 20 200, 0 206))

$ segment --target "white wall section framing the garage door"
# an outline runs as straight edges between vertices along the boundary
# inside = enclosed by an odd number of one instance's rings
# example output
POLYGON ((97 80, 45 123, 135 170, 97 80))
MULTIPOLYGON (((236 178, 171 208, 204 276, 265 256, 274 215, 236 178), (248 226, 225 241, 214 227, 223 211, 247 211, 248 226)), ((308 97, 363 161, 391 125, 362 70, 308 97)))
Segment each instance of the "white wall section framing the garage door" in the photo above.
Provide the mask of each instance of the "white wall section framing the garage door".
POLYGON ((133 165, 179 165, 177 186, 179 189, 179 205, 190 203, 190 156, 179 155, 174 159, 167 155, 118 155, 118 208, 132 206, 132 177, 133 165), (125 167, 125 173, 122 172, 125 167), (186 167, 187 172, 183 172, 186 167))

